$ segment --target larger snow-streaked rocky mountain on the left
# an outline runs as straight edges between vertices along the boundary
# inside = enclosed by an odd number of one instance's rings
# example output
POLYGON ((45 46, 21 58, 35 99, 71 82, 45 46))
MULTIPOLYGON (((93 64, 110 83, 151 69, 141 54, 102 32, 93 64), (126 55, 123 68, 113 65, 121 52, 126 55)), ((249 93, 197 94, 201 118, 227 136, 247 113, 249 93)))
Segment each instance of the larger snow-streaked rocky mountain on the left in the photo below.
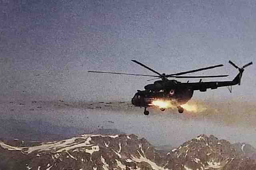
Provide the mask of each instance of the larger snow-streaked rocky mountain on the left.
POLYGON ((81 135, 36 147, 0 146, 1 157, 12 159, 0 160, 1 170, 168 169, 162 168, 166 160, 154 147, 135 135, 81 135))

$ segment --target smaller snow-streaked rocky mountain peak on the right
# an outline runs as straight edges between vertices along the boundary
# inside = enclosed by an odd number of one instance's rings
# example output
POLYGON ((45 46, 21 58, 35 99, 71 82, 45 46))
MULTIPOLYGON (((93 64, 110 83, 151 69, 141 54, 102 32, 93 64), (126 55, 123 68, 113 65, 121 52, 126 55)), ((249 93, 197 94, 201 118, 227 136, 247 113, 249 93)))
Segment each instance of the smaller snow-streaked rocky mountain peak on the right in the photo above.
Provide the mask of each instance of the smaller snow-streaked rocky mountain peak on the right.
POLYGON ((228 141, 218 140, 213 135, 200 135, 171 150, 167 155, 171 164, 167 166, 173 170, 256 169, 255 160, 238 152, 228 141))

